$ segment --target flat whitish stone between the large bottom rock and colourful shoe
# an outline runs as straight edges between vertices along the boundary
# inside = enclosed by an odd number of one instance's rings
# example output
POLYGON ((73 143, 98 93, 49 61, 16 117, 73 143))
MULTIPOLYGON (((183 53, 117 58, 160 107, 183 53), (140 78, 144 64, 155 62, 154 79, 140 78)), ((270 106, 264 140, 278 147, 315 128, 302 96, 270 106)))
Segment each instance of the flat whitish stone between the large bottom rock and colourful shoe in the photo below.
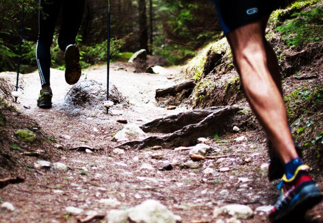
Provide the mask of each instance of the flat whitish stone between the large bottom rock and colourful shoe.
POLYGON ((232 204, 221 208, 215 208, 213 217, 217 218, 219 215, 231 215, 237 219, 248 219, 253 216, 253 211, 246 205, 232 204))

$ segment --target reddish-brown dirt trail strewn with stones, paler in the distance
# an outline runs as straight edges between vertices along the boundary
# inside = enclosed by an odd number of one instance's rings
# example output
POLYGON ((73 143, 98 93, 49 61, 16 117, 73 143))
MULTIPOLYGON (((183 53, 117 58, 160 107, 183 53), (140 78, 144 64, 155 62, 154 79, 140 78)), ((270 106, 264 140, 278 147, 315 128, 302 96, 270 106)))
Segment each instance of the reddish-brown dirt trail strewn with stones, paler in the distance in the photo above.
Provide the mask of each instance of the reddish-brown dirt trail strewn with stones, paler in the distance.
MULTIPOLYGON (((110 83, 128 98, 130 107, 113 111, 114 115, 104 110, 71 113, 64 110, 68 106, 64 98, 71 88, 65 83, 64 72, 51 70, 53 90, 53 108, 41 110, 36 106, 40 90, 38 73, 21 76, 23 94, 18 98, 19 111, 33 117, 41 129, 55 136, 64 150, 49 161, 64 163, 69 167, 66 172, 51 169, 36 169, 33 177, 24 183, 11 184, 0 190, 3 201, 13 204, 15 211, 1 210, 1 223, 42 222, 61 223, 78 222, 86 217, 87 211, 106 214, 111 209, 126 209, 147 199, 156 199, 174 214, 182 218, 183 223, 217 222, 230 217, 213 218, 215 207, 225 204, 245 204, 255 210, 259 206, 272 205, 278 196, 275 183, 271 183, 261 174, 260 166, 268 162, 265 136, 262 132, 232 133, 219 139, 210 139, 209 145, 227 156, 221 162, 205 160, 198 162, 195 169, 183 168, 183 163, 190 160, 187 151, 174 151, 162 148, 125 150, 124 154, 113 153, 117 143, 112 136, 124 127, 117 122, 126 119, 128 123, 143 124, 149 120, 174 111, 155 106, 155 90, 180 82, 179 69, 169 72, 176 74, 174 79, 167 79, 169 74, 136 74, 127 71, 121 64, 112 64, 110 83), (245 136, 246 140, 234 139, 245 136), (70 136, 70 137, 68 137, 70 136), (86 145, 96 149, 93 153, 68 151, 66 149, 86 145), (152 159, 153 153, 161 153, 162 159, 152 159), (248 161, 246 159, 249 158, 248 161), (160 171, 165 165, 172 165, 172 170, 160 171), (229 171, 221 172, 221 167, 229 171), (213 169, 207 173, 205 169, 213 169), (241 182, 241 177, 250 181, 241 182), (116 199, 119 204, 102 203, 101 199, 116 199), (69 206, 83 209, 81 214, 71 215, 66 211, 69 206)), ((106 84, 106 67, 94 66, 86 69, 81 80, 94 79, 106 84)), ((35 148, 41 149, 41 148, 35 148)), ((30 157, 31 163, 37 158, 30 157)), ((319 181, 322 189, 322 180, 319 181)), ((323 204, 308 215, 309 222, 323 222, 323 204)), ((95 220, 100 222, 103 220, 95 220)), ((266 215, 255 214, 242 223, 267 222, 266 215)))

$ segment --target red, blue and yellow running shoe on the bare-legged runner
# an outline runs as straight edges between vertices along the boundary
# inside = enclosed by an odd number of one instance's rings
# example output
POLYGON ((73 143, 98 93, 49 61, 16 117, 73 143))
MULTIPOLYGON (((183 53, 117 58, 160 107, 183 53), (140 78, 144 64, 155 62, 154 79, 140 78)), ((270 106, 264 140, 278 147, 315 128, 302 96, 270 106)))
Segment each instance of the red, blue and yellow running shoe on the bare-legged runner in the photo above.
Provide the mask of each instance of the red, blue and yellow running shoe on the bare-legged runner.
POLYGON ((323 196, 309 174, 310 167, 299 166, 294 176, 287 179, 283 175, 277 185, 280 196, 269 213, 269 219, 274 223, 296 222, 304 218, 307 210, 320 203, 323 196))

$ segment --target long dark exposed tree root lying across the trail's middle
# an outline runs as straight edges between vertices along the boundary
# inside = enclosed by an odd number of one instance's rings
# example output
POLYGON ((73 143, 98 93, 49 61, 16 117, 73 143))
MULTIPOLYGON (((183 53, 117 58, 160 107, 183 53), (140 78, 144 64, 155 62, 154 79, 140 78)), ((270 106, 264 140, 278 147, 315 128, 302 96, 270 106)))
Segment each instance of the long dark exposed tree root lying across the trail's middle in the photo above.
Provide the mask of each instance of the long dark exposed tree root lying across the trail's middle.
POLYGON ((156 119, 142 126, 145 131, 157 129, 169 133, 165 136, 151 136, 144 140, 130 141, 117 147, 136 147, 143 149, 156 145, 163 147, 190 146, 196 143, 199 137, 213 136, 216 132, 223 132, 228 128, 228 121, 240 111, 239 107, 210 108, 206 110, 194 110, 156 119), (168 126, 165 127, 165 126, 168 126))

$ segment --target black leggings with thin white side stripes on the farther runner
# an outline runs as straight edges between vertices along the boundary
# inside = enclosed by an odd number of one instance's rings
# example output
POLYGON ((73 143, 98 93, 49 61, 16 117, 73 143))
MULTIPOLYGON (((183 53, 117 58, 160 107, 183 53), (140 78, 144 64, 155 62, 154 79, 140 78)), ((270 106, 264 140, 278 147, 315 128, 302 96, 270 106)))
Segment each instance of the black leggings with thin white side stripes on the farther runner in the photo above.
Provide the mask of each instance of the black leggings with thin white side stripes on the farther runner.
POLYGON ((39 0, 39 34, 36 46, 36 58, 42 86, 50 85, 51 54, 55 23, 62 8, 62 24, 58 36, 58 45, 64 52, 70 44, 76 44, 75 38, 80 29, 85 0, 39 0))

